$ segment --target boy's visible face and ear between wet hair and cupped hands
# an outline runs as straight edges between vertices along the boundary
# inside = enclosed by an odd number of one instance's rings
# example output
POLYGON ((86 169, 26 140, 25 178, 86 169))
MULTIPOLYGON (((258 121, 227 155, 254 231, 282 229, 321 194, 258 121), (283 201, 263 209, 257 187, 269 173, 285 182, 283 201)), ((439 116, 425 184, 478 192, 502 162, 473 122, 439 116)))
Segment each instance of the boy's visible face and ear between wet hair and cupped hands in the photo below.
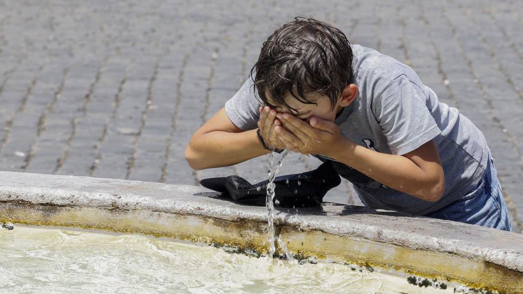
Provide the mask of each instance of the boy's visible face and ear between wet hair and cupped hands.
POLYGON ((331 101, 327 96, 321 94, 311 93, 307 95, 307 100, 316 104, 304 104, 294 98, 290 93, 285 96, 285 102, 298 112, 294 112, 291 109, 287 109, 284 106, 275 105, 270 100, 269 96, 266 96, 270 105, 275 106, 275 110, 281 113, 288 112, 302 120, 309 122, 311 117, 317 117, 324 120, 334 122, 336 115, 343 110, 343 108, 349 105, 356 97, 358 88, 355 84, 347 85, 342 95, 340 95, 336 101, 336 105, 332 107, 331 101))

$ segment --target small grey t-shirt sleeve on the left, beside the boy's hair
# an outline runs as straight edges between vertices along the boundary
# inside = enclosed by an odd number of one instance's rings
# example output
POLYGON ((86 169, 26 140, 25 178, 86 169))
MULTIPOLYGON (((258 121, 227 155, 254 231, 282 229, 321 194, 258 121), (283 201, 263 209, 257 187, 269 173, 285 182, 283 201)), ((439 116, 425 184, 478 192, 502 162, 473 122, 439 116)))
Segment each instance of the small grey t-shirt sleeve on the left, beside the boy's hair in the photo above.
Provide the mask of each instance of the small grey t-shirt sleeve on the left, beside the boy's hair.
POLYGON ((260 106, 254 95, 254 81, 249 76, 238 92, 225 102, 225 113, 236 127, 248 131, 258 127, 260 106))

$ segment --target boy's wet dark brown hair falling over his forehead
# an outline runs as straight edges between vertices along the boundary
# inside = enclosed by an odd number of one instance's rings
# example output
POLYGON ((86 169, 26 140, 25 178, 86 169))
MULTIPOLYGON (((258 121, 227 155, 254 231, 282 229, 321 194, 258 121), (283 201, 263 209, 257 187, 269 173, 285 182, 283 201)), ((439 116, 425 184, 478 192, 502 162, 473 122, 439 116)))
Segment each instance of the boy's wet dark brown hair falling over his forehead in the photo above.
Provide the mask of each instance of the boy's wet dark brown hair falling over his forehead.
POLYGON ((342 31, 313 18, 295 17, 263 43, 250 72, 258 90, 255 96, 264 105, 296 112, 284 100, 288 92, 303 104, 316 104, 305 95, 318 93, 327 96, 334 109, 353 81, 352 60, 353 51, 342 31))

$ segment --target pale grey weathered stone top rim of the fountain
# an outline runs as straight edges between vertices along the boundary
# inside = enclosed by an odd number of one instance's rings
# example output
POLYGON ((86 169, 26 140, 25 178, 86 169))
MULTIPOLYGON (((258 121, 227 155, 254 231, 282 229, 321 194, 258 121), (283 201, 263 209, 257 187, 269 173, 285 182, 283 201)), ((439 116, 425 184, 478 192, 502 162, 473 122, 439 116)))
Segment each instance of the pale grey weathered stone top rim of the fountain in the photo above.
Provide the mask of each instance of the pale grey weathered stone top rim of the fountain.
MULTIPOLYGON (((0 172, 0 179, 0 202, 147 209, 231 221, 267 220, 264 207, 237 205, 196 186, 16 172, 0 172)), ((325 203, 321 210, 279 210, 276 222, 303 230, 457 254, 523 272, 522 234, 334 203, 325 203)))

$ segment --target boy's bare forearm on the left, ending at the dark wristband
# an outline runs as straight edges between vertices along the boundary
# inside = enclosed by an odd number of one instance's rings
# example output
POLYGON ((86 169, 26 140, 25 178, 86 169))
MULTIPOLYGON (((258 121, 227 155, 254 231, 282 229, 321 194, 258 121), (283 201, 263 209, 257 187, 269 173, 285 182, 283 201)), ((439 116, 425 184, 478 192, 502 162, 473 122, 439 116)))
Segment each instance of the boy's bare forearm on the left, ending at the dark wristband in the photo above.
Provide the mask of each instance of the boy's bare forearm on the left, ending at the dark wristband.
POLYGON ((269 152, 259 142, 256 130, 212 131, 192 138, 185 157, 192 168, 204 169, 234 165, 269 152))

